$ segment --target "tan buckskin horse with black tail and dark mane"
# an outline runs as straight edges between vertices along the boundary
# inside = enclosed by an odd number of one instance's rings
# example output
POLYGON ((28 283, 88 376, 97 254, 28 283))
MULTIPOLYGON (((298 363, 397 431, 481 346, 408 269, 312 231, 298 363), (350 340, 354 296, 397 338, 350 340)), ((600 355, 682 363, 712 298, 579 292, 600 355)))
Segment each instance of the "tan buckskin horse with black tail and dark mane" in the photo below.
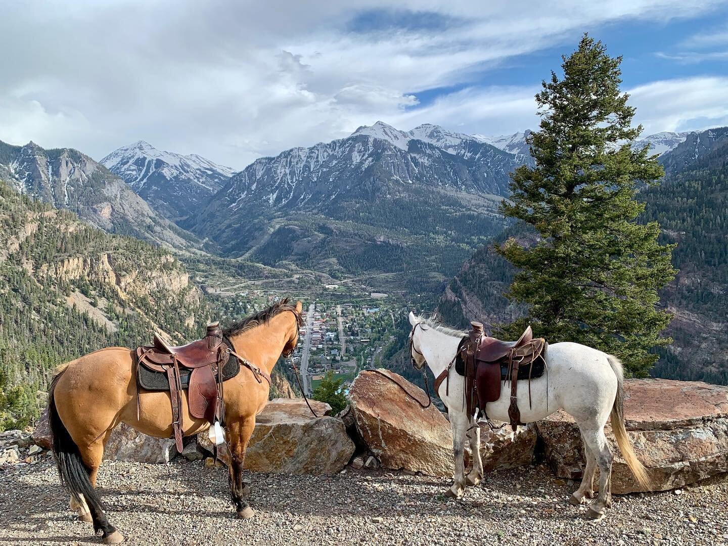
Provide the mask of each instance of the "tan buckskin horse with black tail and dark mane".
MULTIPOLYGON (((302 324, 301 302, 294 305, 284 299, 224 333, 219 327, 208 327, 205 339, 185 347, 169 347, 155 339, 157 347, 141 347, 137 351, 108 347, 62 365, 52 380, 48 409, 53 453, 61 481, 71 493, 71 510, 76 510, 83 521, 92 521, 94 531, 103 534, 105 544, 122 542, 123 535, 108 522, 95 490, 103 449, 111 431, 117 424, 126 423, 146 435, 170 438, 176 432, 173 426, 176 412, 181 435, 191 436, 207 430, 211 421, 203 415, 208 413, 205 404, 209 400, 218 401, 215 376, 212 376, 213 392, 202 396, 193 390, 202 390, 205 382, 193 374, 199 369, 204 371, 199 377, 210 377, 207 368, 211 362, 205 360, 206 355, 224 355, 227 359, 232 354, 242 364, 235 368, 237 375, 226 381, 219 376, 219 382, 224 385, 220 394, 231 455, 230 489, 237 515, 253 517, 242 483, 245 449, 253 434, 256 415, 268 401, 273 366, 281 355, 288 356, 296 348, 302 324), (150 369, 158 366, 170 373, 170 388, 175 384, 182 388, 173 393, 169 388, 155 392, 138 387, 140 355, 149 360, 150 369), (186 372, 180 373, 180 370, 186 372), (181 376, 189 381, 189 391, 181 385, 181 376), (203 406, 197 408, 199 411, 191 403, 195 396, 203 406), (175 397, 180 402, 177 405, 175 397)), ((218 368, 212 365, 217 373, 218 368)))

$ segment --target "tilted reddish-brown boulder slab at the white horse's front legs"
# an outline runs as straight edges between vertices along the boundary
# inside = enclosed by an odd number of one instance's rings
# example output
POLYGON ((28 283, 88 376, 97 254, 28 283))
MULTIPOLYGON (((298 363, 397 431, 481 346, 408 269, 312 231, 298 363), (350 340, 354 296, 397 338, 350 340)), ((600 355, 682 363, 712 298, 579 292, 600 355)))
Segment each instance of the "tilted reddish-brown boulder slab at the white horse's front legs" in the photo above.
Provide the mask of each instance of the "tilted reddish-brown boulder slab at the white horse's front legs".
MULTIPOLYGON (((450 423, 434 405, 422 408, 393 381, 417 400, 423 403, 427 400, 422 389, 394 372, 363 371, 349 390, 357 432, 385 468, 433 476, 453 475, 450 423)), ((483 427, 480 438, 483 469, 488 472, 529 464, 536 438, 534 425, 518 427, 516 432, 510 427, 500 430, 483 427)))

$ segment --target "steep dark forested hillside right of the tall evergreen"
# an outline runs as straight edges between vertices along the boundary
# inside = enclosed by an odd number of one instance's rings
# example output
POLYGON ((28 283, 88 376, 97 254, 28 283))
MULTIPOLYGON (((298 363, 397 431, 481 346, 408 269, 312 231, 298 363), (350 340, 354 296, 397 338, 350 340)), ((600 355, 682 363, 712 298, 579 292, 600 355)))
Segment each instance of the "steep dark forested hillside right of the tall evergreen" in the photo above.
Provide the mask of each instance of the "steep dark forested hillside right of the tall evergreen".
POLYGON ((659 221, 662 240, 678 243, 680 269, 662 293, 675 341, 654 373, 728 384, 728 139, 644 199, 645 220, 659 221))

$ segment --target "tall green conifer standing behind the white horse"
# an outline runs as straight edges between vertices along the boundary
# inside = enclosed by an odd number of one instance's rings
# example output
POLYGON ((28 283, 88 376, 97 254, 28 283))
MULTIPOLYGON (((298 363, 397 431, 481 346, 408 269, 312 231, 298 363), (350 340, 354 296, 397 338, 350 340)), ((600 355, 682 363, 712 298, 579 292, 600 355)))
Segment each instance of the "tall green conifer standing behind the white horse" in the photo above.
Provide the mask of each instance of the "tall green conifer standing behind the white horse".
POLYGON ((659 224, 637 221, 638 189, 664 173, 647 146, 631 146, 642 127, 630 127, 635 108, 620 92, 621 61, 585 34, 563 57, 563 78, 552 72, 536 95, 535 166, 515 170, 502 212, 530 224, 539 241, 495 245, 520 269, 507 296, 526 304, 528 316, 500 330, 515 336, 530 323, 552 343, 601 349, 645 376, 657 360, 650 351, 672 341, 660 336, 671 316, 657 290, 676 271, 674 245, 657 242, 659 224))

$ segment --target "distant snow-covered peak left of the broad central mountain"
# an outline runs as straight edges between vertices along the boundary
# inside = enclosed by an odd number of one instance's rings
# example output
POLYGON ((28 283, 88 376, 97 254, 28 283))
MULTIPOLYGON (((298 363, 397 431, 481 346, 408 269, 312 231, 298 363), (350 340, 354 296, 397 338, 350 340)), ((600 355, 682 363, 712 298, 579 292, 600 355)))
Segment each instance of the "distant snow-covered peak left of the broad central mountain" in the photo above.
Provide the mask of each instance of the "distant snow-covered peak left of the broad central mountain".
POLYGON ((183 156, 138 141, 101 159, 146 202, 171 218, 188 216, 217 192, 234 170, 196 154, 183 156))

